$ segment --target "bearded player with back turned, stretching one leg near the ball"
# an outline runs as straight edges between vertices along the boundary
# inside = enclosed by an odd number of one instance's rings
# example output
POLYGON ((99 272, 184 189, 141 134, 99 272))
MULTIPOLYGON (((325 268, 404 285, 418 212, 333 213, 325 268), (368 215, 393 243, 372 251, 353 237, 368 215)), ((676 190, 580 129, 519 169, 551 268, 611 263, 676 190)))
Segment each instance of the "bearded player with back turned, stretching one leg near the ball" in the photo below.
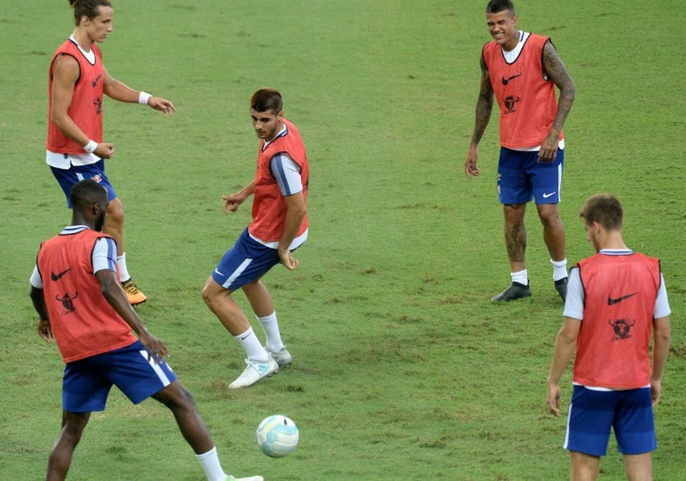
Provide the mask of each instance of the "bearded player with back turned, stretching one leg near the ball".
POLYGON ((38 333, 57 342, 66 363, 62 430, 46 479, 67 477, 91 412, 105 409, 115 384, 134 404, 152 397, 174 413, 208 480, 234 480, 222 470, 193 397, 163 360, 167 347, 147 331, 121 288, 115 240, 101 233, 108 211, 106 189, 95 180, 81 180, 71 188, 70 200, 71 225, 43 242, 31 276, 38 333))

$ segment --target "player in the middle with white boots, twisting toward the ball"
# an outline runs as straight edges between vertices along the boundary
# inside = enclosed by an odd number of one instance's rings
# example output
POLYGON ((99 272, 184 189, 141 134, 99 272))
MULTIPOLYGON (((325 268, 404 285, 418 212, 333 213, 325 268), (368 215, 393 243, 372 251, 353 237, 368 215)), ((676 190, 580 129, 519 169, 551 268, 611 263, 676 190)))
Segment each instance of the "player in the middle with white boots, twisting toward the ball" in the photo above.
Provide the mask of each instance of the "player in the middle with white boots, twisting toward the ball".
POLYGON ((282 263, 298 267, 292 251, 307 239, 309 166, 305 145, 294 124, 283 117, 283 100, 274 89, 260 89, 250 99, 250 117, 257 137, 255 180, 224 196, 224 213, 235 212, 254 194, 252 222, 207 279, 202 297, 224 327, 246 351, 245 371, 229 385, 243 388, 290 364, 281 340, 274 302, 261 278, 282 263), (265 333, 263 347, 231 294, 241 288, 265 333))

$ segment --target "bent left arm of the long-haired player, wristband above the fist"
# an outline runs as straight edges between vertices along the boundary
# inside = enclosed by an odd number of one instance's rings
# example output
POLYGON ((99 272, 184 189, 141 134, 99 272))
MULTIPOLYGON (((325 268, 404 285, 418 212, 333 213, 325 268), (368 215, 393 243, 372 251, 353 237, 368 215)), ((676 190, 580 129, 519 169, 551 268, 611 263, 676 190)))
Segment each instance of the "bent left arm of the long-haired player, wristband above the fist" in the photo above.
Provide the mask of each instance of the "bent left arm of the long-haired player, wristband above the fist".
MULTIPOLYGON (((75 124, 69 116, 69 107, 73 99, 74 86, 80 75, 79 62, 71 55, 60 55, 55 59, 52 68, 52 118, 56 126, 69 139, 86 145, 88 139, 83 130, 75 124)), ((84 153, 86 151, 84 150, 84 153)), ((101 159, 110 159, 115 153, 111 143, 99 143, 95 149, 95 155, 101 159)))

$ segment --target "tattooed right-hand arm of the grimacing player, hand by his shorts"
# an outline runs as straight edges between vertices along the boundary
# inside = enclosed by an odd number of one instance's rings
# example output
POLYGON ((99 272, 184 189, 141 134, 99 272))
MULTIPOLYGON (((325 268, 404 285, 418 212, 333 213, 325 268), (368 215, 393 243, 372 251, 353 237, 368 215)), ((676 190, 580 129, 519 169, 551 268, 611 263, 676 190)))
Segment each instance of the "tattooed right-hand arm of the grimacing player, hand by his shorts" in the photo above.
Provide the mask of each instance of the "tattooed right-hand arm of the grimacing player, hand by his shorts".
POLYGON ((543 46, 543 69, 550 80, 560 89, 557 115, 539 152, 539 161, 552 162, 557 157, 558 139, 569 110, 571 110, 571 104, 574 102, 576 88, 569 76, 569 72, 567 72, 565 64, 560 60, 555 47, 553 47, 550 41, 547 41, 543 46))

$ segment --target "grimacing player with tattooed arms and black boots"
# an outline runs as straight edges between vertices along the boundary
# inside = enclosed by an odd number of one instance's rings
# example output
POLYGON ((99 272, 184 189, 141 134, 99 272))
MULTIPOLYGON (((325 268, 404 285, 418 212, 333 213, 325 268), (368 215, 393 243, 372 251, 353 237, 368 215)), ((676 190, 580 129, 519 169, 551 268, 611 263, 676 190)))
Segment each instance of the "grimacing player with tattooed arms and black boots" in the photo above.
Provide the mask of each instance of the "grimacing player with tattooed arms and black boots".
POLYGON ((555 289, 564 301, 567 258, 558 202, 565 162, 562 128, 574 99, 574 84, 550 38, 517 29, 511 1, 488 2, 486 23, 493 40, 482 50, 481 89, 464 172, 470 179, 481 174, 477 148, 488 126, 495 95, 500 107, 498 194, 504 207, 512 284, 491 301, 531 296, 524 258, 524 214, 532 198, 543 224, 555 289), (555 86, 560 89, 559 102, 555 86))

